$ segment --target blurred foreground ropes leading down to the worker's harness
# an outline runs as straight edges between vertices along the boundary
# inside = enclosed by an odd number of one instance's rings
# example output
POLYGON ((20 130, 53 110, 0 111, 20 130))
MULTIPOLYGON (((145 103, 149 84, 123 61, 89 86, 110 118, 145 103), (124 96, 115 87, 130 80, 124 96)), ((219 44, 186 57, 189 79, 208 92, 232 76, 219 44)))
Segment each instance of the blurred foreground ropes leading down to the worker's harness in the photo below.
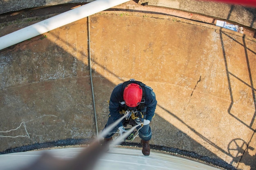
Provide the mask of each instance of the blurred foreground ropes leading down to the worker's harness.
MULTIPOLYGON (((84 148, 74 159, 58 159, 45 152, 37 161, 31 162, 30 164, 28 163, 28 166, 21 170, 93 170, 97 161, 109 148, 109 145, 101 145, 102 138, 108 132, 110 132, 112 128, 117 126, 119 122, 124 119, 124 117, 125 116, 121 117, 108 128, 103 130, 99 137, 95 139, 87 148, 84 148)), ((123 138, 126 138, 137 126, 134 126, 128 132, 124 133, 123 138)), ((112 142, 112 145, 118 145, 122 140, 122 138, 118 137, 112 142)))

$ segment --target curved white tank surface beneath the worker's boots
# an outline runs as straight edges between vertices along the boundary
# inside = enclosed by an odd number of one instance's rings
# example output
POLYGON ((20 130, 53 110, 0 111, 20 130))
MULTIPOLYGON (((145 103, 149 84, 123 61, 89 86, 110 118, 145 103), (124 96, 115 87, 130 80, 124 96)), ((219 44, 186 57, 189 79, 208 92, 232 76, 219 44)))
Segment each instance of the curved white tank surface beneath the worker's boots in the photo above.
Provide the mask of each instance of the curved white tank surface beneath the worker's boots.
MULTIPOLYGON (((48 152, 61 159, 76 157, 82 147, 59 148, 49 150, 36 150, 27 152, 16 152, 0 155, 1 170, 18 170, 29 165, 42 155, 48 152)), ((193 161, 184 157, 169 155, 167 153, 150 151, 150 156, 144 156, 141 148, 110 148, 104 154, 95 170, 220 170, 218 168, 193 161)))

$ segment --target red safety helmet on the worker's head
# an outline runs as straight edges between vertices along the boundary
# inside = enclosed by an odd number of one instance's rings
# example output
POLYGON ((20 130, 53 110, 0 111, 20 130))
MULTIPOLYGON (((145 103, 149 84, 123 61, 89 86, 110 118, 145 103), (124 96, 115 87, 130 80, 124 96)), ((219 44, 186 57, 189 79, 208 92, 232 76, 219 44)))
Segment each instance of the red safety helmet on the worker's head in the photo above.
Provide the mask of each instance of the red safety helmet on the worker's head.
POLYGON ((142 98, 142 88, 139 84, 131 83, 124 88, 124 102, 129 107, 136 107, 142 98))

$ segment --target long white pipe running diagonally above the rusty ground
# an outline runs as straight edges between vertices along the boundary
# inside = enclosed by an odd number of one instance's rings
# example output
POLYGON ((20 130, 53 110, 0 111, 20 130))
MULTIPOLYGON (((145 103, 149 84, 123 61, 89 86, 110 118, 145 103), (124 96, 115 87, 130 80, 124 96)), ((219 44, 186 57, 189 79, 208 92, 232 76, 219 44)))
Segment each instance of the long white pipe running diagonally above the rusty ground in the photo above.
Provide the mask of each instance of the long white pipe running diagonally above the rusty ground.
POLYGON ((0 50, 128 1, 129 0, 92 1, 81 7, 61 13, 0 37, 0 50))

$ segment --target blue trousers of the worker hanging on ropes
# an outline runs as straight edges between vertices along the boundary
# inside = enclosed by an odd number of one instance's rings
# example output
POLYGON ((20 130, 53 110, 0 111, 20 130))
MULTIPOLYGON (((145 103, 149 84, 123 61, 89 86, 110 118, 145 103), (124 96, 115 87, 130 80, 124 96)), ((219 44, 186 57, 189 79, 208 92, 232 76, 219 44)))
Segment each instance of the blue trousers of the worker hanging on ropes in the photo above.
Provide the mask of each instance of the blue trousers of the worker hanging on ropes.
MULTIPOLYGON (((146 115, 144 115, 144 119, 146 119, 146 115)), ((110 124, 112 124, 114 121, 112 120, 112 118, 110 117, 110 115, 109 115, 109 117, 108 117, 108 121, 107 121, 107 124, 106 124, 106 126, 105 126, 105 128, 106 127, 108 127, 110 124)), ((105 129, 104 128, 104 129, 105 129)), ((118 128, 119 127, 115 127, 115 128, 113 128, 106 136, 105 136, 105 138, 110 138, 110 137, 112 137, 113 135, 115 135, 115 133, 117 132, 117 130, 118 130, 118 128)), ((141 126, 138 126, 137 127, 137 130, 139 129, 139 128, 141 128, 141 126)), ((104 130, 103 129, 103 130, 104 130)), ((148 125, 144 125, 141 129, 139 129, 139 137, 142 139, 142 140, 144 140, 144 141, 149 141, 150 139, 151 139, 151 136, 152 136, 152 132, 151 132, 151 128, 150 128, 150 126, 149 126, 149 124, 148 125)))

